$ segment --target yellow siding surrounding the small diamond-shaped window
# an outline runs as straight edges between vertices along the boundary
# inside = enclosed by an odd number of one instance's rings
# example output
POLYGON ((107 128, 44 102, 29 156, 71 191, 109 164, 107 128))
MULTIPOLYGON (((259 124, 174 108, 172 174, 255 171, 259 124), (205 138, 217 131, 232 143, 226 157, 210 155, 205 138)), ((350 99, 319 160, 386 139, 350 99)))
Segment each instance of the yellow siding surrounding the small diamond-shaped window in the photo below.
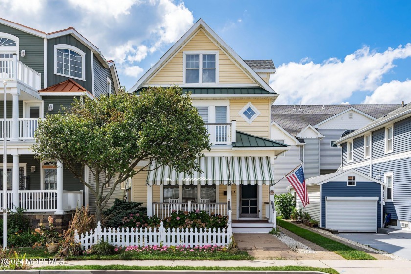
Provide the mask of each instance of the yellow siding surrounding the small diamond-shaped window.
POLYGON ((230 118, 237 121, 237 130, 246 132, 258 137, 269 138, 270 132, 270 102, 269 100, 230 100, 230 118), (250 102, 254 107, 260 111, 260 115, 252 121, 247 123, 243 117, 240 116, 239 111, 250 102))

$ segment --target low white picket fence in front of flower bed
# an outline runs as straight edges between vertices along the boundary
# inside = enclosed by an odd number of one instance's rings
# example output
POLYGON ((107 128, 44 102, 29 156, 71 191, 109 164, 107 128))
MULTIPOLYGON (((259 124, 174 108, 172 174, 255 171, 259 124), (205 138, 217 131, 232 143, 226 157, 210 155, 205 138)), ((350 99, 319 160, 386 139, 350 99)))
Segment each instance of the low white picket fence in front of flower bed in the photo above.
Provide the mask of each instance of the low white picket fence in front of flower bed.
POLYGON ((117 247, 126 246, 228 246, 232 237, 231 211, 227 230, 224 228, 164 228, 161 221, 160 228, 102 228, 100 222, 94 231, 86 234, 74 234, 75 242, 81 244, 82 249, 90 249, 92 245, 103 240, 117 247))

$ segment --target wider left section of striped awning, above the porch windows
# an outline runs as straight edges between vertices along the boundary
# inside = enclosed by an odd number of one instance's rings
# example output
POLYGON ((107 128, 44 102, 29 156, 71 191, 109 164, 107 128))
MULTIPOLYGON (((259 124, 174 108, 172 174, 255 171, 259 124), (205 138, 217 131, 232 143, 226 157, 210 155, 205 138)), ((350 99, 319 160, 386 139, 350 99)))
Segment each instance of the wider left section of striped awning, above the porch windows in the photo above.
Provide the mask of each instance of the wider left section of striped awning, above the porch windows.
POLYGON ((189 175, 177 173, 170 166, 159 167, 158 162, 153 162, 147 175, 147 184, 164 185, 189 185, 189 184, 228 184, 228 157, 198 157, 197 161, 202 172, 194 172, 189 175))

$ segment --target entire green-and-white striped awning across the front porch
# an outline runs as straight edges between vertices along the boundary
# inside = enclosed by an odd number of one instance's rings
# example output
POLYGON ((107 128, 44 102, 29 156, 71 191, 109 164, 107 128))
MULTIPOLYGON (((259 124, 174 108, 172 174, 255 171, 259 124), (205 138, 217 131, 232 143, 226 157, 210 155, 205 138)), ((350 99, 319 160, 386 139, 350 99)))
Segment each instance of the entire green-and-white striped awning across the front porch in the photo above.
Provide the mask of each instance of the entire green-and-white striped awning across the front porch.
POLYGON ((273 184, 270 157, 199 157, 202 172, 178 173, 154 161, 147 175, 148 185, 273 184))

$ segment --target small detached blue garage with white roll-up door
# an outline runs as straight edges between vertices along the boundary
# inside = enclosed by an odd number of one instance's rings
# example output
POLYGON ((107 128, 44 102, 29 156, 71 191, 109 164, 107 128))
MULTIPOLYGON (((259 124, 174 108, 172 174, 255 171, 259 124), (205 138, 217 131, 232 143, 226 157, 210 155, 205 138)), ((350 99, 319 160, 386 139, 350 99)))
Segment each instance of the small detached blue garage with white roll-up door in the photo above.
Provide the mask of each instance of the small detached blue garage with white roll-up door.
MULTIPOLYGON (((381 228, 385 183, 354 169, 311 177, 305 183, 310 204, 304 211, 321 227, 339 232, 381 228)), ((302 208, 298 202, 297 207, 302 208)))

